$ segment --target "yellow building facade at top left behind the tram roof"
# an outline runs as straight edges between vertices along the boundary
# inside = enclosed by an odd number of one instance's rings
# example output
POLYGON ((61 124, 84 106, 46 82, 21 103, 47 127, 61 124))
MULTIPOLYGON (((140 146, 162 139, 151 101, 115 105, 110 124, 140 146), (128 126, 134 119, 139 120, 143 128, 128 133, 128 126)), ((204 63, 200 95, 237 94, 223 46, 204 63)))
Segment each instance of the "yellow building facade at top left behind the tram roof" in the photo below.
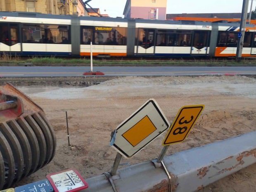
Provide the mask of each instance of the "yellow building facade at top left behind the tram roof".
POLYGON ((78 14, 77 6, 78 0, 0 0, 0 11, 9 12, 78 14))

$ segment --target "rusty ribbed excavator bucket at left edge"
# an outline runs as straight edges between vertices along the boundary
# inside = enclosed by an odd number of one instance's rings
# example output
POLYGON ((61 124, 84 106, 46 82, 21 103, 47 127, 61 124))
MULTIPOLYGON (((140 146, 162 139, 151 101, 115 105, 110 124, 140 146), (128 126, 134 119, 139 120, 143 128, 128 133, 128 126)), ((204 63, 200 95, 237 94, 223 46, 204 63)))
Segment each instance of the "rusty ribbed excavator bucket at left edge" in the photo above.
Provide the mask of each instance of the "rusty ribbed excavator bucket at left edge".
POLYGON ((43 109, 11 84, 0 86, 0 190, 47 165, 55 149, 43 109))

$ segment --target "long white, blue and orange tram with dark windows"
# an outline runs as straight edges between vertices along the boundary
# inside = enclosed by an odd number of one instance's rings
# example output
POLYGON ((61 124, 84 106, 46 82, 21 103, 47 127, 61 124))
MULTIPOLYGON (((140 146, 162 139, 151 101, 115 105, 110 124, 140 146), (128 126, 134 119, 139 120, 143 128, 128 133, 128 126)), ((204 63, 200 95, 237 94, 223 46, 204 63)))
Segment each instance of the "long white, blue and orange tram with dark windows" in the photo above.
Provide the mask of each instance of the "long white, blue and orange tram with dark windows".
MULTIPOLYGON (((98 57, 235 57, 237 23, 0 12, 0 54, 98 57)), ((256 57, 247 25, 242 57, 256 57)))

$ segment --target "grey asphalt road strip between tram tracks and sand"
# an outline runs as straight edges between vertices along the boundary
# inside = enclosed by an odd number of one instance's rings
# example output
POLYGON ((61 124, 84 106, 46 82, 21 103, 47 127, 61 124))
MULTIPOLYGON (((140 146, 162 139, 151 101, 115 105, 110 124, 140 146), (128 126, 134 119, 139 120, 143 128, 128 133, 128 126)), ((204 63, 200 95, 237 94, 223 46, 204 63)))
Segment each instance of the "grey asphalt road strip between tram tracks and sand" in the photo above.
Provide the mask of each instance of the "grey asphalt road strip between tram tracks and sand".
MULTIPOLYGON (((0 66, 0 77, 83 76, 90 66, 0 66)), ((105 76, 190 76, 256 74, 256 66, 97 66, 105 76)))

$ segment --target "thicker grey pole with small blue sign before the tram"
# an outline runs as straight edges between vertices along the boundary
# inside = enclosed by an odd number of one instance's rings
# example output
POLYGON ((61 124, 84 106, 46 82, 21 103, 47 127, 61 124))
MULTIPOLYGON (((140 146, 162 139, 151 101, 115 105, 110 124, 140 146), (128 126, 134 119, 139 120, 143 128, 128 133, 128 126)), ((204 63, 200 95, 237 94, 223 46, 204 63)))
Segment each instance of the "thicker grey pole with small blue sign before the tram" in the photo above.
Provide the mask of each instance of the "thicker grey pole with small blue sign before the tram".
POLYGON ((240 62, 242 59, 242 50, 244 45, 244 34, 245 34, 245 24, 247 21, 247 12, 248 12, 248 5, 249 0, 243 1, 243 8, 242 8, 242 17, 240 21, 240 32, 238 34, 238 42, 237 42, 237 55, 236 55, 236 61, 240 62))

